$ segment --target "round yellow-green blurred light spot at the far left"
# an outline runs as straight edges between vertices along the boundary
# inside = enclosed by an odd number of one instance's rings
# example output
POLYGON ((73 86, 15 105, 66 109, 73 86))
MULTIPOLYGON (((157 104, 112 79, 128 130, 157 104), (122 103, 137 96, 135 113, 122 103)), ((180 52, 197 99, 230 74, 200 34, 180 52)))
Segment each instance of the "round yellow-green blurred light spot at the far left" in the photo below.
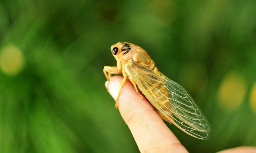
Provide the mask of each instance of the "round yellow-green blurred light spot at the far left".
POLYGON ((6 75, 17 75, 23 66, 23 55, 20 49, 14 45, 6 46, 0 51, 0 68, 6 75))

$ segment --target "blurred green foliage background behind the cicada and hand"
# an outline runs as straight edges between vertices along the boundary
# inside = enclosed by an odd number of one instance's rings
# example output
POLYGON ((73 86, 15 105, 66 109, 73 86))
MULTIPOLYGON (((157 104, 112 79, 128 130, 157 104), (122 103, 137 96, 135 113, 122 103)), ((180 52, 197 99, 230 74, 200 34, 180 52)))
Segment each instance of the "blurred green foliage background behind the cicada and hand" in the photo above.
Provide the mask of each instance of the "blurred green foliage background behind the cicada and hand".
POLYGON ((191 153, 256 146, 256 1, 0 1, 0 152, 139 152, 103 66, 144 48, 212 132, 168 125, 191 153))

